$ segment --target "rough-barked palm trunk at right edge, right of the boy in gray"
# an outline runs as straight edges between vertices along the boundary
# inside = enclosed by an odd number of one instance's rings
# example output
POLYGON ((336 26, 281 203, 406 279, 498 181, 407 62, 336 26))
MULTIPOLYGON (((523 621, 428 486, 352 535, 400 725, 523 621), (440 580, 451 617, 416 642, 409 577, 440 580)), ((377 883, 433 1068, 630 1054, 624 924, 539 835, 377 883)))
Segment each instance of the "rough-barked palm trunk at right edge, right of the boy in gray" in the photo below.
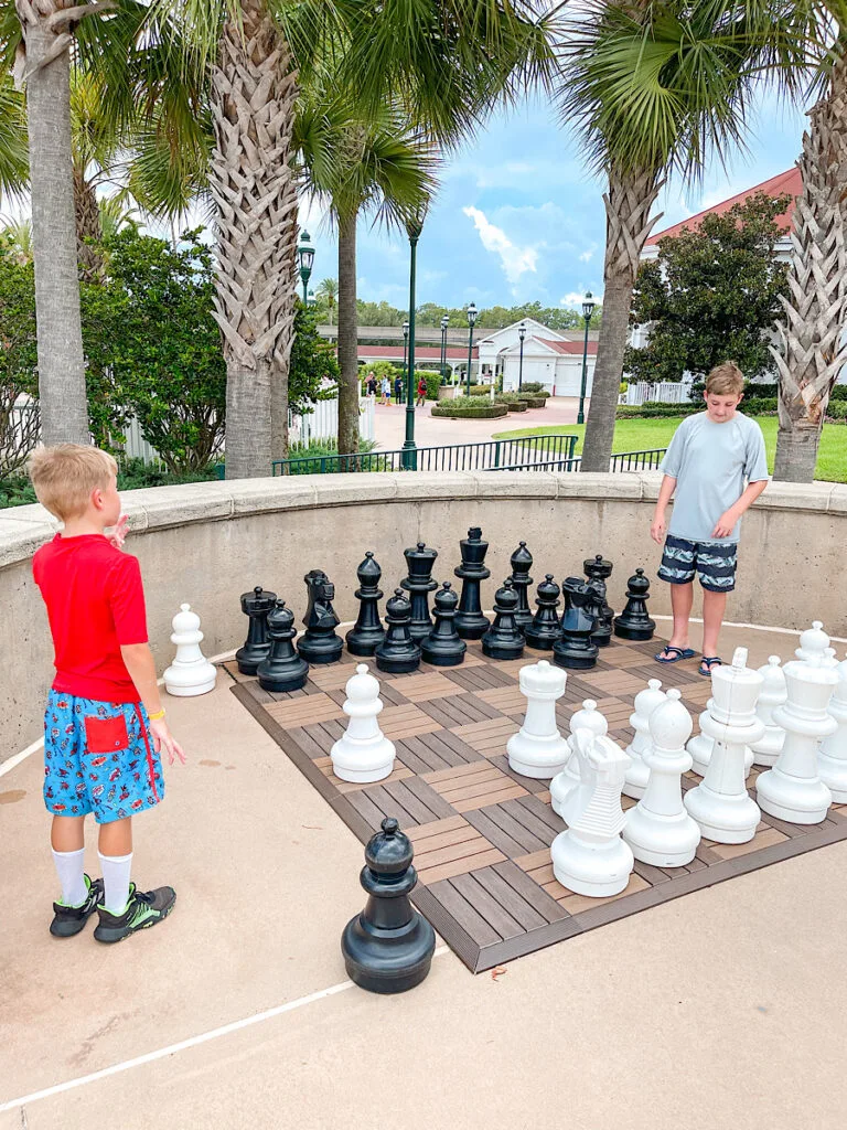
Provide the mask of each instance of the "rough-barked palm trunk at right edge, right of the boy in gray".
POLYGON ((788 297, 777 322, 779 432, 774 478, 811 483, 823 418, 847 362, 847 60, 812 108, 798 160, 803 192, 794 208, 788 297))

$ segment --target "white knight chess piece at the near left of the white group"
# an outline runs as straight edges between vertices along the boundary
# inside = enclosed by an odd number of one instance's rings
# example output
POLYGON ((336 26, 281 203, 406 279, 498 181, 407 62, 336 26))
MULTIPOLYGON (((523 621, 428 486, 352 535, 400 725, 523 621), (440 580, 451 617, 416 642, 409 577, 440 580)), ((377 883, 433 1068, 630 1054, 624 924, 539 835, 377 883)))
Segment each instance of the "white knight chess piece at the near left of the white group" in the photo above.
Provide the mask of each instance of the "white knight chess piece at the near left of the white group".
POLYGON ((620 894, 629 883, 635 860, 620 833, 626 823, 620 805, 623 774, 629 757, 611 738, 579 729, 574 744, 586 768, 590 785, 569 799, 584 803, 569 812, 568 827, 550 845, 553 875, 558 881, 579 895, 606 898, 620 894))

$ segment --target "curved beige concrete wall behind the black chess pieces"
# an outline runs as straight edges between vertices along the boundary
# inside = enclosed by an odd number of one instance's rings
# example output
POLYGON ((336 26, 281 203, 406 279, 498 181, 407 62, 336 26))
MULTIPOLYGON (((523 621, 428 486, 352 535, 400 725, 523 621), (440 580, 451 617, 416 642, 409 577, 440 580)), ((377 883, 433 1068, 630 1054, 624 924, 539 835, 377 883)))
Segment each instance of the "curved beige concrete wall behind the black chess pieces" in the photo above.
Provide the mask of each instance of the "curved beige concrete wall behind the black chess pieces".
MULTIPOLYGON (((419 540, 439 551, 434 575, 454 580, 459 539, 481 525, 491 544, 495 582, 524 539, 535 564, 557 581, 578 574, 584 557, 614 562, 610 600, 620 608, 637 565, 653 575, 658 547, 648 527, 657 473, 326 475, 198 483, 126 492, 126 548, 142 567, 150 641, 159 670, 171 660, 171 618, 189 601, 202 617, 208 655, 238 646, 246 621, 238 597, 261 584, 305 611, 304 574, 325 570, 342 619, 356 616, 356 566, 373 549, 390 593, 404 575, 403 549, 419 540)), ((56 529, 40 506, 0 515, 0 760, 36 740, 52 678, 52 646, 30 573, 33 553, 56 529)), ((801 628, 814 618, 847 634, 847 486, 771 484, 744 520, 739 588, 727 618, 801 628)), ((654 582, 650 607, 669 611, 667 586, 654 582)), ((695 615, 699 603, 695 606, 695 615)))

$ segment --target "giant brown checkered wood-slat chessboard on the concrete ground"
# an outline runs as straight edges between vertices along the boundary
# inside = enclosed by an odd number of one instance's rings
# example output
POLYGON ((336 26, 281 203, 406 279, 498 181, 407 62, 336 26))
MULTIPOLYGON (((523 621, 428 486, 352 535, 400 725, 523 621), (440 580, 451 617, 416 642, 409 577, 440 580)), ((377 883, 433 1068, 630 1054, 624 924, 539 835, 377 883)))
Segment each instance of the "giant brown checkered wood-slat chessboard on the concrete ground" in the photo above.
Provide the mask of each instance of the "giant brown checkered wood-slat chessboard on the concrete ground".
MULTIPOLYGON (((697 732, 710 683, 693 661, 661 669, 652 661, 661 643, 614 640, 593 670, 569 671, 557 704, 562 733, 583 699, 594 698, 611 737, 626 745, 635 695, 656 677, 680 688, 697 732)), ((363 843, 384 817, 399 819, 414 845, 419 881, 412 901, 473 972, 847 838, 847 806, 811 826, 762 814, 750 843, 704 840, 688 867, 671 870, 637 862, 628 887, 614 897, 588 898, 560 886, 550 844, 565 825, 550 807, 549 782, 514 773, 506 758, 506 741, 525 707, 518 670, 542 658, 527 647, 521 660, 497 662, 469 643, 455 668, 421 663, 414 673, 388 676, 367 661, 385 703, 379 724, 398 756, 390 777, 366 785, 340 781, 330 760, 346 722, 344 684, 363 660, 344 652, 338 663, 313 667, 305 688, 291 694, 262 690, 235 663, 227 670, 236 680, 234 694, 363 843)), ((691 773, 682 784, 690 789, 698 781, 691 773)), ((634 803, 623 798, 625 808, 634 803)))

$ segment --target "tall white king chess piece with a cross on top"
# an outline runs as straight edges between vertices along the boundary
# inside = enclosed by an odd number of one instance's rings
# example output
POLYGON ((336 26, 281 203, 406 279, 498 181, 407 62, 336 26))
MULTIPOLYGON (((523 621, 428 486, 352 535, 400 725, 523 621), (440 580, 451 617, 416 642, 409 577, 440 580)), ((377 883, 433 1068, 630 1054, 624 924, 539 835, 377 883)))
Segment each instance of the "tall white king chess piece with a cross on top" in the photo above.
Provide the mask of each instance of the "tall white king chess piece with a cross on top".
POLYGON ((715 748, 706 776, 686 793, 684 803, 704 836, 721 844, 748 843, 759 824, 759 807, 744 786, 744 753, 765 733, 756 714, 763 681, 746 666, 746 647, 735 649, 732 666, 711 672, 714 704, 704 728, 715 748))

